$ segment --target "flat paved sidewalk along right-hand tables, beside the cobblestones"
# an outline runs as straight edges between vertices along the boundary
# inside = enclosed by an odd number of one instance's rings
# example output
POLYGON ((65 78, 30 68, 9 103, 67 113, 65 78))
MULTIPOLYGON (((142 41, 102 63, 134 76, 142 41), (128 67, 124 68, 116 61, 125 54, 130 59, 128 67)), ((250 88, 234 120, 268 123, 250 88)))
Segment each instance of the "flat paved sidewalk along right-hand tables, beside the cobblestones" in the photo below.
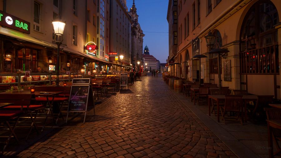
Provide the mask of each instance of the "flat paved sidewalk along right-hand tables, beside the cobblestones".
MULTIPOLYGON (((168 85, 167 85, 168 87, 168 85)), ((268 133, 267 125, 256 125, 248 121, 240 122, 217 122, 217 117, 208 114, 208 105, 198 106, 191 102, 190 96, 183 93, 170 91, 187 106, 220 140, 226 144, 240 158, 268 157, 268 133)))

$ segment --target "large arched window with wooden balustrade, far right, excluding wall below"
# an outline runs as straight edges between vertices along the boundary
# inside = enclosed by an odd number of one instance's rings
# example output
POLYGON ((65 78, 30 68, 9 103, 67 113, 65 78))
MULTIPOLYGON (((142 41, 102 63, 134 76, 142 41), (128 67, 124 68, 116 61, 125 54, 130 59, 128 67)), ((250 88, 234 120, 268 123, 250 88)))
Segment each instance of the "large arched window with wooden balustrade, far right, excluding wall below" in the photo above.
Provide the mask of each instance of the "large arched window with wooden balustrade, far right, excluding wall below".
POLYGON ((256 2, 246 13, 240 32, 240 73, 279 74, 276 7, 271 2, 256 2))

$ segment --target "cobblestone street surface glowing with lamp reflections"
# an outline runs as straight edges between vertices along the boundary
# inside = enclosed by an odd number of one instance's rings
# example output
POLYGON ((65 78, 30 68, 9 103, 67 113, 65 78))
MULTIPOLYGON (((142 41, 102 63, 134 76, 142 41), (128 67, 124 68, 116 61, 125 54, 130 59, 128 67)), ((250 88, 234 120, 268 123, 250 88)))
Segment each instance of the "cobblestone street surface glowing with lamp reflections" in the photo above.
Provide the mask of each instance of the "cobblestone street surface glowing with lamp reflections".
POLYGON ((22 157, 235 157, 160 77, 142 77, 22 157))

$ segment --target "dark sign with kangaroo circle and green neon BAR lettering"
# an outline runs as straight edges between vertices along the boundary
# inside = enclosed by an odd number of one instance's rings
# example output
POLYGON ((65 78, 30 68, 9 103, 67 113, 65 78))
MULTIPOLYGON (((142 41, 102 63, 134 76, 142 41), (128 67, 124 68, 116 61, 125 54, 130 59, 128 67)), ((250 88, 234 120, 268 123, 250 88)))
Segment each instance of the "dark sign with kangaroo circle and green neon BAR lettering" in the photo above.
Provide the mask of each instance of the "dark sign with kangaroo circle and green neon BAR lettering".
POLYGON ((8 14, 7 12, 0 11, 0 25, 30 34, 30 22, 8 14))

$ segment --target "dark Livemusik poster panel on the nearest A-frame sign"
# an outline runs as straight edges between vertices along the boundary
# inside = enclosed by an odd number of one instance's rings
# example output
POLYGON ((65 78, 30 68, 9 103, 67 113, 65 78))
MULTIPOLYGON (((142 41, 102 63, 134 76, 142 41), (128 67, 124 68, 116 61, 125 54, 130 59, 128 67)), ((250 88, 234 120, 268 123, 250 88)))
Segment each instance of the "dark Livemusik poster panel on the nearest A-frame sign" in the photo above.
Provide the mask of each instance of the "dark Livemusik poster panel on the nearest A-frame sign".
POLYGON ((89 86, 73 85, 71 86, 68 111, 87 111, 89 97, 89 86))

